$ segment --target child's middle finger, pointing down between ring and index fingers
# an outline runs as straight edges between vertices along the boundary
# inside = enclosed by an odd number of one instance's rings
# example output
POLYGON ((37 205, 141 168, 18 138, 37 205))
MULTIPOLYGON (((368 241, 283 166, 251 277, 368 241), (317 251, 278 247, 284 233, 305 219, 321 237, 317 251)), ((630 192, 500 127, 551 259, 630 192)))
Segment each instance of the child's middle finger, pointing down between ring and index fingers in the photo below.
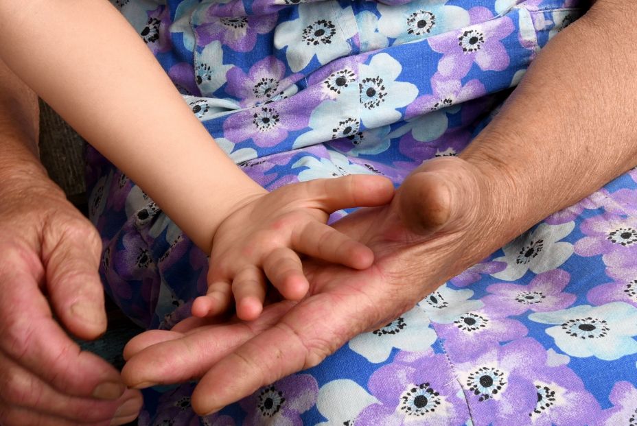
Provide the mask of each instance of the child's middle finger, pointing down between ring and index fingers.
POLYGON ((271 252, 264 261, 263 269, 270 283, 288 300, 300 300, 310 289, 301 259, 290 248, 281 247, 271 252))

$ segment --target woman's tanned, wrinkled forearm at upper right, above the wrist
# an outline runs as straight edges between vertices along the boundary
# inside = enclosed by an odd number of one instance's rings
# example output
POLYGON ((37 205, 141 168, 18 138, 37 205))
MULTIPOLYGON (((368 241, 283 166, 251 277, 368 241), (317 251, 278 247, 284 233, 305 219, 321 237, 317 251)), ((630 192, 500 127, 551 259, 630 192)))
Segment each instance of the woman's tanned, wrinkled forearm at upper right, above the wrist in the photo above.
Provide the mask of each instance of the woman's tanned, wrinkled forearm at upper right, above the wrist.
POLYGON ((637 164, 636 28, 631 5, 597 1, 548 43, 463 152, 501 184, 501 211, 519 230, 637 164))

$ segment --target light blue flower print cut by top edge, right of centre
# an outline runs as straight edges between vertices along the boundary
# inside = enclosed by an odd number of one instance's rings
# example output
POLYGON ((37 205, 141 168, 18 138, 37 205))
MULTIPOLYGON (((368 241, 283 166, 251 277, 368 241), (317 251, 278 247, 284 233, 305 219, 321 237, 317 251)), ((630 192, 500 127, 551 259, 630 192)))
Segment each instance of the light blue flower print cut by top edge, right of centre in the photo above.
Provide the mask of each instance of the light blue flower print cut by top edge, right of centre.
POLYGON ((399 45, 470 25, 469 12, 458 6, 445 5, 447 1, 415 0, 403 5, 378 3, 378 30, 395 38, 393 45, 399 45))

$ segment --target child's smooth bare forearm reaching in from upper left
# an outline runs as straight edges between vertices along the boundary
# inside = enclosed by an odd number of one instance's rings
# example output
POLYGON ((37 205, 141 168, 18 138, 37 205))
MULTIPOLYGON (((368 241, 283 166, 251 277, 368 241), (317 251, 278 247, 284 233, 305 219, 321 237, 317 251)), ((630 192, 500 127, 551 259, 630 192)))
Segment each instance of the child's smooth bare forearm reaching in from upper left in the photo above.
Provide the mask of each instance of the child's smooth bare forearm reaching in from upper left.
POLYGON ((0 58, 209 251, 264 189, 214 143, 106 0, 0 0, 0 58))

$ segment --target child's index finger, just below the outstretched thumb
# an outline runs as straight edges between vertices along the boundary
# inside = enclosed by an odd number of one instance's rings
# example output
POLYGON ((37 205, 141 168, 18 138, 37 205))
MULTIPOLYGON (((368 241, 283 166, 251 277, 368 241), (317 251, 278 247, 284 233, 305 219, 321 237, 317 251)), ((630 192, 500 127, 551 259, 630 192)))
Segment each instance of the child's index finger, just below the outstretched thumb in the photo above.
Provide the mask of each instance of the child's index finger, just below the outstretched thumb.
POLYGON ((324 261, 354 269, 367 269, 374 261, 371 249, 320 222, 308 222, 292 233, 292 248, 324 261))

